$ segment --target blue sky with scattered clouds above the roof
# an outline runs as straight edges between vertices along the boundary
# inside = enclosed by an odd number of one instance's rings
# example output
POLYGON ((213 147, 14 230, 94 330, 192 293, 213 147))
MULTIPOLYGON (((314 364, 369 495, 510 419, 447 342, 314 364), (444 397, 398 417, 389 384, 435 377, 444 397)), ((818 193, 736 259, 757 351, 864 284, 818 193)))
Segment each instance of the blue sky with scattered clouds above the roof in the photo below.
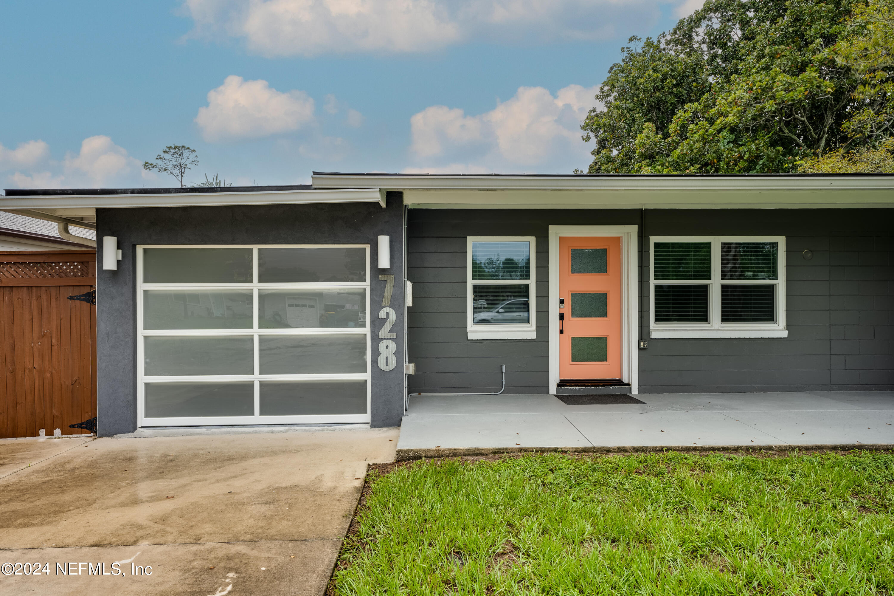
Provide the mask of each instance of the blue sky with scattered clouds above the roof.
POLYGON ((631 35, 698 0, 8 2, 0 187, 171 186, 312 170, 568 173, 631 35))

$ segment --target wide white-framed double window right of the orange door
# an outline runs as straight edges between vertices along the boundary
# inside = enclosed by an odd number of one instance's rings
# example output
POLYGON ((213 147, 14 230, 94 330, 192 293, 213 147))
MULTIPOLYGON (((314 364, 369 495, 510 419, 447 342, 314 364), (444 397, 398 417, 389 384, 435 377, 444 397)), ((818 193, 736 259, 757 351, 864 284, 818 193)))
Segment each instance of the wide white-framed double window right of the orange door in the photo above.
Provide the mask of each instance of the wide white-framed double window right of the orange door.
POLYGON ((785 337, 785 237, 651 239, 652 336, 785 337))

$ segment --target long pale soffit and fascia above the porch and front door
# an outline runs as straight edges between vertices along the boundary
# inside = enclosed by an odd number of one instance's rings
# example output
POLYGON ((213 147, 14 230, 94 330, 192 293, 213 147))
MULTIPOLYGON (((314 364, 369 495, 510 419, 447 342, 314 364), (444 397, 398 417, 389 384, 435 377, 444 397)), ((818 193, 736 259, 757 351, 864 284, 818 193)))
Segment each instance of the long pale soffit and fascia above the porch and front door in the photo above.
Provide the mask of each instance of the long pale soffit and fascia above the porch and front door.
POLYGON ((378 186, 417 209, 894 207, 894 175, 400 175, 320 173, 315 188, 378 186))

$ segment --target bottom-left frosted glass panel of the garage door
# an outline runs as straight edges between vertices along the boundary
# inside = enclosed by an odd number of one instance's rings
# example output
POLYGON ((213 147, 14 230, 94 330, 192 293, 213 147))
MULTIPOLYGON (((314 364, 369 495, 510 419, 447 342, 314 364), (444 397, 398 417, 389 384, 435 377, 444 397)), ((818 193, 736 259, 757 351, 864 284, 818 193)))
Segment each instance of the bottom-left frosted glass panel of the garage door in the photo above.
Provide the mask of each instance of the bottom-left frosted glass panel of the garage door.
POLYGON ((254 383, 147 383, 147 418, 254 416, 254 383))

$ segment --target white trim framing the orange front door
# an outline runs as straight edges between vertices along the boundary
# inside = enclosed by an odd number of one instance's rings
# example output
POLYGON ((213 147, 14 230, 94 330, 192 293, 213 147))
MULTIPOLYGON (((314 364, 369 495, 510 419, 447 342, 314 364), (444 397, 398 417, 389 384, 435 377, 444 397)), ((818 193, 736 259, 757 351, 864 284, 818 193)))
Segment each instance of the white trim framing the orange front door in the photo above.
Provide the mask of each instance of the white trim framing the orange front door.
POLYGON ((623 379, 630 393, 639 393, 637 346, 637 226, 550 226, 550 393, 559 383, 559 237, 620 236, 621 289, 623 292, 623 379))

